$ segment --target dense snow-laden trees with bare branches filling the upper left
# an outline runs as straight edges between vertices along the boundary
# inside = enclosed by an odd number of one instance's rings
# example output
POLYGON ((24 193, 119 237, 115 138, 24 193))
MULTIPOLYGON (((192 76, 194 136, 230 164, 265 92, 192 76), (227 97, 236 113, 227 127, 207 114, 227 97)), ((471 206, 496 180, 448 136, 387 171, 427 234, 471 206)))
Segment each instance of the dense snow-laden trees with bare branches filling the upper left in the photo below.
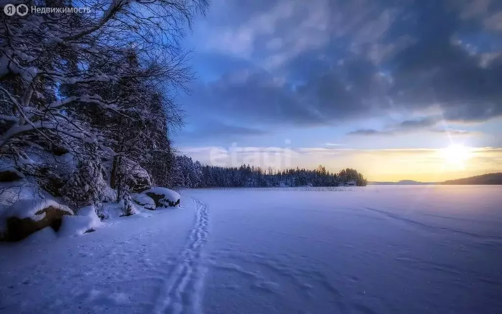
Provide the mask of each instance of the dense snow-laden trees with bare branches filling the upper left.
MULTIPOLYGON (((179 42, 207 0, 21 3, 89 11, 0 17, 0 157, 38 179, 47 165, 34 151, 72 155, 76 177, 117 156, 145 168, 172 158, 167 129, 181 121, 172 91, 193 78, 179 42)), ((61 183, 78 188, 76 177, 61 183)))

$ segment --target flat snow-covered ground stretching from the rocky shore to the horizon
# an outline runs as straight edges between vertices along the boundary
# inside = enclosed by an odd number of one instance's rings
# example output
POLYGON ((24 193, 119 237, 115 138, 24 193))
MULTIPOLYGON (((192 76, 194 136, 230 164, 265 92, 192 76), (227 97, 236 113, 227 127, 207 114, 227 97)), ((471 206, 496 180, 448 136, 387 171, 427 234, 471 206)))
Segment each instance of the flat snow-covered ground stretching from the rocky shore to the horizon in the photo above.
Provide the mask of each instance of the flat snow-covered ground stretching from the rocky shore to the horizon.
POLYGON ((0 312, 501 312, 501 186, 181 195, 96 232, 3 244, 0 312))

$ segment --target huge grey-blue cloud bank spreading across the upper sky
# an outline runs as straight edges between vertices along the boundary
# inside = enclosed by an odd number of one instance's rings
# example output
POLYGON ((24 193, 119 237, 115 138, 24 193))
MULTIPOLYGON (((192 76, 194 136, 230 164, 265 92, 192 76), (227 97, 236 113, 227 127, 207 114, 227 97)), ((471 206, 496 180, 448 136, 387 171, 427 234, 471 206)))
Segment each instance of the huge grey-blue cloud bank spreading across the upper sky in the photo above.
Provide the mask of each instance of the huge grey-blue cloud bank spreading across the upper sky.
POLYGON ((224 5, 202 45, 248 65, 194 89, 222 115, 304 126, 433 106, 447 121, 502 116, 502 12, 492 1, 224 5))

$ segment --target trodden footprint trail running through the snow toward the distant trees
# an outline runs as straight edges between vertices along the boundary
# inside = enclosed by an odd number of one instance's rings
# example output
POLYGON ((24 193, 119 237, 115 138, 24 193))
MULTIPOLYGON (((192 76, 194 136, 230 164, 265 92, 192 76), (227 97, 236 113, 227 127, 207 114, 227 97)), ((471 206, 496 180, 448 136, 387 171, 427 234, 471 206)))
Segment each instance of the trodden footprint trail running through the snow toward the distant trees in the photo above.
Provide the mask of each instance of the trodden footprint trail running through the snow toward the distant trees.
POLYGON ((195 225, 188 244, 181 251, 176 264, 161 287, 153 310, 156 314, 202 313, 202 288, 206 268, 202 249, 208 239, 208 206, 192 198, 196 205, 195 225))

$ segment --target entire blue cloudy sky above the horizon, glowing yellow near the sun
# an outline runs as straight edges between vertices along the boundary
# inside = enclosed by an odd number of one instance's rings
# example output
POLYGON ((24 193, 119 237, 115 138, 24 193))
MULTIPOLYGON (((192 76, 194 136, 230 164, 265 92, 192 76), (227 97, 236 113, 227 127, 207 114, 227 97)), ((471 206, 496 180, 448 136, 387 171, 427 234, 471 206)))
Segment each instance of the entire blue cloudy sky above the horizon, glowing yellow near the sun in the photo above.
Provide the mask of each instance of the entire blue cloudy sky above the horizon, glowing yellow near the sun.
POLYGON ((502 169, 501 9, 496 0, 214 0, 185 40, 198 78, 180 97, 187 126, 174 143, 206 163, 208 149, 232 143, 326 149, 325 159, 295 162, 367 168, 374 180, 422 177, 411 171, 418 155, 378 172, 371 158, 345 165, 339 153, 460 144, 478 153, 442 177, 502 169), (481 150, 495 157, 480 162, 481 150))

